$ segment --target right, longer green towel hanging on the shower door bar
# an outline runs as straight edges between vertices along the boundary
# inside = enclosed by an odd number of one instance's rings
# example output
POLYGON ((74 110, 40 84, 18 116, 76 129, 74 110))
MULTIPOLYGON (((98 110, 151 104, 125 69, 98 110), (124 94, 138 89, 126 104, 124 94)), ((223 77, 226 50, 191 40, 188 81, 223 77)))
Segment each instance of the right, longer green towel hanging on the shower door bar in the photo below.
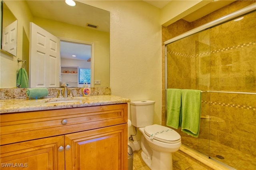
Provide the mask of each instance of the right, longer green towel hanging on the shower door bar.
POLYGON ((181 100, 181 131, 193 137, 198 137, 201 114, 201 90, 181 90, 181 100))

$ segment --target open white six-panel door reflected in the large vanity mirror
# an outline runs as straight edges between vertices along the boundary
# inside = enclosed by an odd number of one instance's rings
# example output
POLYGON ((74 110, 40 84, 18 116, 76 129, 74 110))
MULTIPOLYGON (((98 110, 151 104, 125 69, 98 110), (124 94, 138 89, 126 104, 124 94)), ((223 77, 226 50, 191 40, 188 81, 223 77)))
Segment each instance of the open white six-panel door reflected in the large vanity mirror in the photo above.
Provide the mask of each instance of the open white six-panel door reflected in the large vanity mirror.
POLYGON ((59 87, 60 39, 32 22, 30 30, 30 88, 59 87))

